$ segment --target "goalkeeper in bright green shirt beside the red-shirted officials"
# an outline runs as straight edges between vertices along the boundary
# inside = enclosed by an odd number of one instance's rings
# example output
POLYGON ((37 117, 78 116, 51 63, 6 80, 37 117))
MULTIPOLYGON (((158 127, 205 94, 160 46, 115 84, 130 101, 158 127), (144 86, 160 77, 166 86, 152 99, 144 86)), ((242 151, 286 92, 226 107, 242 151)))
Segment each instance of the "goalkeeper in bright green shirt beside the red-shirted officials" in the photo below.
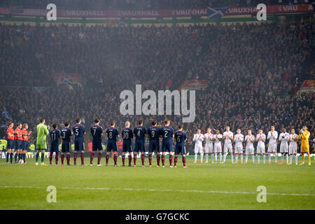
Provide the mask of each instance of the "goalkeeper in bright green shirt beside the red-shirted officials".
POLYGON ((41 165, 47 166, 44 163, 44 156, 45 150, 47 149, 46 137, 48 136, 49 132, 47 126, 45 125, 45 118, 39 119, 41 122, 39 125, 36 126, 37 131, 37 138, 36 138, 36 163, 35 165, 38 166, 38 157, 39 153, 41 152, 41 165))

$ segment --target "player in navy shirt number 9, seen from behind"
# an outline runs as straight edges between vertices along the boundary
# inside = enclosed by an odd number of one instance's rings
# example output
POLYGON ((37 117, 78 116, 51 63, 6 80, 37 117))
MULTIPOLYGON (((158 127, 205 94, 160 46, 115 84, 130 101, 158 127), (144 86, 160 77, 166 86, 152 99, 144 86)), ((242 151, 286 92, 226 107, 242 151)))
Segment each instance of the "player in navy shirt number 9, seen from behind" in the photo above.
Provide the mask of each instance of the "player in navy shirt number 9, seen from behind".
POLYGON ((152 126, 148 128, 149 137, 149 165, 152 167, 152 153, 156 153, 157 167, 160 167, 160 128, 158 128, 157 121, 152 120, 152 126))

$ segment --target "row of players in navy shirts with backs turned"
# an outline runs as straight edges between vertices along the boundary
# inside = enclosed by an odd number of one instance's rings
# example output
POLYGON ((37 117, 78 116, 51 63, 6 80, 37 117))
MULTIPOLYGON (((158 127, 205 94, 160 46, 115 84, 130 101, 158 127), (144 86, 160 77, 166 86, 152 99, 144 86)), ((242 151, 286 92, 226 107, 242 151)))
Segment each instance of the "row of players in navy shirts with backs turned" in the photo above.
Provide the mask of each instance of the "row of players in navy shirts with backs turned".
MULTIPOLYGON (((90 153, 90 166, 93 164, 94 154, 97 153, 97 166, 101 166, 102 158, 102 137, 104 132, 102 126, 99 125, 100 119, 94 119, 94 125, 90 129, 92 134, 92 152, 90 153)), ((172 166, 173 162, 173 139, 175 140, 175 158, 174 158, 174 167, 176 167, 178 156, 182 155, 183 167, 186 166, 186 148, 185 141, 187 139, 186 133, 183 132, 183 125, 179 125, 179 130, 174 132, 174 129, 170 127, 170 121, 165 120, 164 127, 157 127, 157 121, 152 120, 152 126, 146 129, 143 126, 143 121, 139 120, 138 125, 134 127, 134 130, 130 128, 130 122, 125 123, 125 128, 121 132, 121 137, 123 138, 123 156, 122 162, 125 166, 125 157, 128 157, 129 163, 128 166, 132 167, 132 153, 134 154, 134 167, 136 167, 137 155, 141 153, 141 162, 142 167, 145 160, 145 140, 149 139, 149 152, 148 152, 148 162, 149 166, 152 166, 152 155, 155 153, 157 156, 157 167, 160 167, 160 160, 162 160, 162 167, 165 167, 165 155, 169 153, 169 167, 172 166), (162 138, 162 147, 160 154, 160 138, 162 138), (132 148, 132 139, 134 139, 134 148, 132 148)), ((107 137, 107 147, 106 147, 106 166, 109 165, 109 155, 113 152, 114 166, 117 167, 117 158, 118 158, 118 146, 117 141, 120 137, 120 134, 115 127, 115 122, 111 122, 111 127, 106 130, 107 137)), ((81 119, 76 119, 76 125, 73 126, 72 130, 69 128, 69 123, 64 123, 62 130, 57 129, 57 125, 52 125, 52 130, 49 132, 51 139, 50 144, 50 165, 52 165, 52 155, 55 153, 55 165, 58 165, 59 159, 59 139, 62 139, 62 165, 64 165, 64 156, 66 156, 66 165, 70 165, 70 152, 71 152, 71 135, 74 135, 74 155, 73 155, 73 164, 76 166, 76 159, 78 153, 80 153, 81 166, 84 164, 84 134, 86 134, 85 127, 81 124, 81 119)))

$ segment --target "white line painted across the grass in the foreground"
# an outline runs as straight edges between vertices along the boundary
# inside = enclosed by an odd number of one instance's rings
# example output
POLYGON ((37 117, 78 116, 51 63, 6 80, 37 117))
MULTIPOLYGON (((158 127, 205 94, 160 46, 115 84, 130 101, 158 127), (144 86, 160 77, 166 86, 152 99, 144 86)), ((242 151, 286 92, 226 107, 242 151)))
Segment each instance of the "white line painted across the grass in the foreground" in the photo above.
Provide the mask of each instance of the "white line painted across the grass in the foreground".
MULTIPOLYGON (((36 186, 0 186, 0 188, 36 188, 45 189, 45 187, 36 186)), ((171 190, 171 189, 133 189, 133 188, 69 188, 57 187, 62 190, 129 190, 129 191, 158 191, 158 192, 180 192, 180 193, 208 193, 208 194, 235 194, 235 195, 257 195, 259 192, 249 191, 219 191, 219 190, 171 190)), ((297 193, 267 193, 267 195, 279 196, 315 196, 315 194, 297 194, 297 193)))

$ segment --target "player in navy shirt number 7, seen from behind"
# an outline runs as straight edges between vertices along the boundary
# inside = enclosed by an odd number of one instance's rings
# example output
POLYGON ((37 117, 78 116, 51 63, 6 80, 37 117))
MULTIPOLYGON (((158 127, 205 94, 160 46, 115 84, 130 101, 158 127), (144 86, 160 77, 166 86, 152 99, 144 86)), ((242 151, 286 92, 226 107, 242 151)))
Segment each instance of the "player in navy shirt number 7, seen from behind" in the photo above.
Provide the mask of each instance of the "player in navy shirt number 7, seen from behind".
POLYGON ((90 166, 93 165, 93 158, 94 158, 94 152, 97 151, 97 166, 101 166, 99 163, 101 162, 102 158, 102 151, 103 151, 103 145, 102 145, 102 137, 103 134, 103 128, 99 125, 101 122, 101 119, 94 118, 94 125, 91 127, 91 134, 92 134, 92 152, 90 155, 90 166))

